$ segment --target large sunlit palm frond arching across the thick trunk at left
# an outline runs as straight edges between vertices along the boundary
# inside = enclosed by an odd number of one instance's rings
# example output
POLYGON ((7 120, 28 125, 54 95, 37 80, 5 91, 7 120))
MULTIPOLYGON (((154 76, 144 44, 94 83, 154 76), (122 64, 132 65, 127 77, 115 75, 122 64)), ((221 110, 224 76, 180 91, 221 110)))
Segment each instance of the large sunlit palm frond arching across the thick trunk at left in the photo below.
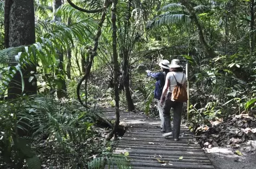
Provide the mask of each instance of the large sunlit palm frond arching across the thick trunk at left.
MULTIPOLYGON (((80 22, 68 25, 68 27, 65 28, 57 28, 53 32, 44 35, 44 37, 37 38, 37 42, 31 46, 0 51, 0 59, 2 58, 2 61, 9 59, 11 63, 14 63, 12 65, 15 65, 2 70, 2 83, 4 86, 2 86, 0 95, 5 93, 12 77, 17 71, 20 72, 22 76, 21 68, 25 67, 26 64, 35 65, 37 62, 41 62, 43 64, 43 72, 49 73, 49 67, 59 64, 59 61, 56 60, 55 57, 56 49, 59 51, 63 49, 67 51, 74 44, 73 38, 84 42, 85 39, 91 38, 91 35, 92 32, 88 28, 88 25, 84 22, 80 22), (16 53, 16 51, 20 52, 16 53)), ((22 88, 24 88, 23 84, 24 82, 22 82, 22 88)))

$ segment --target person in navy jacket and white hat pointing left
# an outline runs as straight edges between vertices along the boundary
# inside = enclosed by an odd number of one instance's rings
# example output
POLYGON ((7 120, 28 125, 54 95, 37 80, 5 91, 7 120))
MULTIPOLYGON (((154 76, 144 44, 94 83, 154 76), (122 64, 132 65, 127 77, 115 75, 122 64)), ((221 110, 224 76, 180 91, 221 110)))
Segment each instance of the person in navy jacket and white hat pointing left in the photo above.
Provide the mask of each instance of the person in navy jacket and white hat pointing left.
POLYGON ((160 99, 163 92, 165 77, 169 73, 169 69, 170 69, 170 67, 168 66, 169 64, 170 62, 168 60, 163 60, 158 64, 162 68, 162 72, 152 73, 150 70, 146 70, 146 72, 148 73, 148 76, 156 79, 154 98, 157 99, 158 101, 158 111, 161 119, 161 131, 164 123, 164 118, 163 118, 163 106, 160 104, 160 99))

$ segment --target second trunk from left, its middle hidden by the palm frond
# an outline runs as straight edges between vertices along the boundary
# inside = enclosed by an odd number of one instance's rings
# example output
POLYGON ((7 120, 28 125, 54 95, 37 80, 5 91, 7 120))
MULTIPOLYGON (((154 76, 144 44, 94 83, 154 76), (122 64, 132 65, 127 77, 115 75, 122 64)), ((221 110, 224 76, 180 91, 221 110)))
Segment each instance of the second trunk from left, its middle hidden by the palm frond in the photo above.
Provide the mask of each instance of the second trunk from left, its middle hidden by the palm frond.
MULTIPOLYGON (((56 15, 56 11, 60 6, 62 5, 61 0, 54 0, 53 1, 53 20, 54 21, 61 21, 61 17, 56 15)), ((63 62, 64 62, 64 56, 63 56, 63 51, 57 51, 57 55, 60 60, 59 68, 61 69, 61 72, 56 72, 62 75, 62 78, 59 79, 61 83, 61 88, 57 89, 57 97, 60 98, 65 98, 67 97, 67 86, 66 86, 66 81, 65 81, 65 73, 63 69, 63 62)))

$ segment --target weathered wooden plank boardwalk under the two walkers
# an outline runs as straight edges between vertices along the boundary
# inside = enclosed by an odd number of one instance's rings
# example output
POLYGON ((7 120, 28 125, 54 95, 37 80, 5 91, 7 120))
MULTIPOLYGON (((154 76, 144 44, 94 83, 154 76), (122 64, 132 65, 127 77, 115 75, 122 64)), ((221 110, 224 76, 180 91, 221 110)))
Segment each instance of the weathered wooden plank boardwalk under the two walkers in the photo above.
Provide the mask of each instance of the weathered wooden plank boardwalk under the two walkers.
MULTIPOLYGON (((114 109, 104 109, 108 119, 114 119, 114 109)), ((180 141, 162 137, 159 120, 145 115, 120 112, 120 125, 128 127, 115 153, 129 152, 133 168, 200 168, 214 169, 206 154, 185 126, 181 127, 180 141), (183 157, 183 159, 179 159, 183 157), (159 161, 165 163, 159 163, 159 161)))

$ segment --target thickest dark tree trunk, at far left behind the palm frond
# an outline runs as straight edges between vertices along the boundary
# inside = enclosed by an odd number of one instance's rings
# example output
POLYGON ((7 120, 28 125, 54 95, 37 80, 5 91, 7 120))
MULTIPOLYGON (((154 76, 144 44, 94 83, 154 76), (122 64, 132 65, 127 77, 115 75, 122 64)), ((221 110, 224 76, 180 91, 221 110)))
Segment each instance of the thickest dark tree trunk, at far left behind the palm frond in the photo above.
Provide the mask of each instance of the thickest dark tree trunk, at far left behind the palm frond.
MULTIPOLYGON (((35 13, 34 1, 5 1, 4 14, 5 29, 5 48, 30 45, 35 43, 35 13)), ((16 66, 15 57, 10 59, 10 66, 16 66)), ((22 69, 24 79, 24 93, 37 93, 37 80, 34 78, 29 82, 31 71, 36 72, 36 63, 27 64, 27 68, 22 69)), ((22 94, 21 74, 16 73, 9 83, 8 99, 14 99, 17 95, 22 94)))

